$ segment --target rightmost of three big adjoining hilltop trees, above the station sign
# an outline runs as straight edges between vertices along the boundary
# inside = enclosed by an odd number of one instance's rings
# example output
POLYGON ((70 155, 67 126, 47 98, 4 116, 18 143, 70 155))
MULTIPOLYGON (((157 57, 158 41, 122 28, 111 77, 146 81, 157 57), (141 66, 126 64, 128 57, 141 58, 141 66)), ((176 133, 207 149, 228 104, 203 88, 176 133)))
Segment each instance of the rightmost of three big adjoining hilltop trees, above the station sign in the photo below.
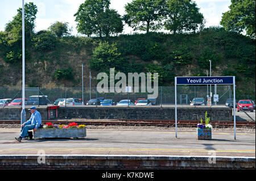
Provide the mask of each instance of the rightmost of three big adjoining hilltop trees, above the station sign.
POLYGON ((171 32, 196 31, 204 16, 192 0, 168 0, 166 2, 164 27, 171 32))

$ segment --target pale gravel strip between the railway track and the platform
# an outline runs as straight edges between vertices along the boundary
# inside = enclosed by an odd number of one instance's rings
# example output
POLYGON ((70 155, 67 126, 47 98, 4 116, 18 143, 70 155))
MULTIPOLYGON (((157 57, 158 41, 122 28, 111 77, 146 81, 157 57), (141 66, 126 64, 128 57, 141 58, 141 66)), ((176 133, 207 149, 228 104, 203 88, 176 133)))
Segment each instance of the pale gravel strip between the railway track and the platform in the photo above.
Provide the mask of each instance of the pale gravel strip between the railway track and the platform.
MULTIPOLYGON (((20 124, 0 124, 0 128, 20 128, 20 124)), ((113 129, 113 130, 154 130, 154 131, 175 131, 173 127, 156 127, 156 126, 121 126, 121 125, 86 125, 86 129, 113 129)), ((177 131, 196 131, 195 127, 179 127, 177 131)), ((234 131, 233 127, 230 128, 214 128, 212 131, 234 131)), ((255 127, 239 127, 236 128, 237 132, 255 132, 255 127)))

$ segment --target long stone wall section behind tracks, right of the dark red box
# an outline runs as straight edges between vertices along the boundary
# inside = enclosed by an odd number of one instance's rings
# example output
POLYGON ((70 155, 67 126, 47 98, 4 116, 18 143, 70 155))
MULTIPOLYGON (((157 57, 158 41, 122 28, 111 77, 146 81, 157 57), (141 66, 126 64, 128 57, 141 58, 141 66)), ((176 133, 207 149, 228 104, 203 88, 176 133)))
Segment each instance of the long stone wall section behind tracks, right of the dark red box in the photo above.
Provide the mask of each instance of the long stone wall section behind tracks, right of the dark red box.
MULTIPOLYGON (((177 120, 204 119, 207 111, 210 120, 232 121, 231 108, 177 108, 177 120)), ((59 108, 60 119, 156 119, 175 120, 174 107, 88 107, 88 108, 59 108)))

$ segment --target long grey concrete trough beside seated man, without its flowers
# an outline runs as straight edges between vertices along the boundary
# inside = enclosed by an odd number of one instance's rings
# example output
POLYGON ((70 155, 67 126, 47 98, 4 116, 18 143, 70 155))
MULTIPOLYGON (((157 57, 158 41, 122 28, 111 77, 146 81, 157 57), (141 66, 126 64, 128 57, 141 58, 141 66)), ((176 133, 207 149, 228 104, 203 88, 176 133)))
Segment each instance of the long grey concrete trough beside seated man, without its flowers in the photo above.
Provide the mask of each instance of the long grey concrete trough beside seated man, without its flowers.
POLYGON ((39 128, 34 138, 80 138, 86 137, 86 128, 39 128))

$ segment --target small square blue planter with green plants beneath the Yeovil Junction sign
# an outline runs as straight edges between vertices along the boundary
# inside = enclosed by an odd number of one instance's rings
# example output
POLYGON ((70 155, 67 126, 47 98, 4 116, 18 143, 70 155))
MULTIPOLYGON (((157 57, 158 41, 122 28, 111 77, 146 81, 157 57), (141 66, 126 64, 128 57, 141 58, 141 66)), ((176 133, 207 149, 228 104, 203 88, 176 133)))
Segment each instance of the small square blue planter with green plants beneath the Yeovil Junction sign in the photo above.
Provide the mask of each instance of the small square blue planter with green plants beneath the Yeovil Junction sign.
POLYGON ((203 119, 201 119, 200 124, 197 124, 197 140, 212 140, 212 125, 210 125, 209 122, 210 117, 208 117, 207 112, 205 112, 205 125, 203 124, 203 119))

